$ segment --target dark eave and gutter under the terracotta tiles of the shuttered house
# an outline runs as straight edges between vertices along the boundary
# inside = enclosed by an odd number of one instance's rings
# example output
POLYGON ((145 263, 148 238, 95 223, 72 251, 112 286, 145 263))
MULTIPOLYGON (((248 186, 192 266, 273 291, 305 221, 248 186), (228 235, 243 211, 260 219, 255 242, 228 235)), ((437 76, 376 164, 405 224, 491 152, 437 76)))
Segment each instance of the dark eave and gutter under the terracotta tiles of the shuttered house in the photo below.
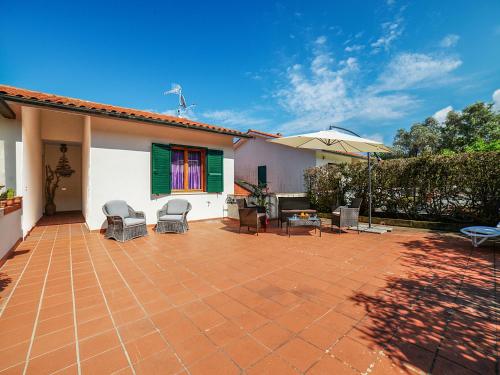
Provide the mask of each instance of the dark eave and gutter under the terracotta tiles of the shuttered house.
POLYGON ((106 110, 99 110, 99 109, 91 109, 91 108, 86 108, 86 107, 77 107, 75 105, 66 105, 66 104, 59 104, 59 103, 53 103, 53 102, 44 102, 44 101, 40 101, 38 99, 30 99, 30 98, 15 96, 15 95, 8 95, 8 94, 4 94, 4 93, 0 93, 0 98, 3 100, 6 100, 6 101, 8 100, 10 102, 29 104, 29 105, 32 105, 35 107, 46 107, 46 108, 63 110, 63 111, 77 112, 77 113, 81 113, 81 114, 85 114, 85 115, 92 115, 92 116, 99 116, 99 117, 111 117, 111 118, 116 118, 116 119, 121 119, 121 120, 138 121, 138 122, 145 122, 145 123, 155 124, 155 125, 172 126, 172 127, 189 129, 189 130, 197 130, 197 131, 206 131, 206 132, 210 132, 210 133, 230 135, 230 136, 237 137, 237 138, 251 138, 247 134, 237 132, 237 131, 232 132, 232 131, 224 131, 224 130, 218 130, 218 129, 208 129, 208 128, 197 127, 194 125, 189 125, 189 124, 182 124, 182 123, 178 123, 178 122, 174 122, 174 121, 159 120, 159 119, 148 118, 148 117, 144 117, 144 116, 133 116, 133 115, 128 115, 125 113, 117 112, 117 111, 113 112, 113 111, 106 111, 106 110))

